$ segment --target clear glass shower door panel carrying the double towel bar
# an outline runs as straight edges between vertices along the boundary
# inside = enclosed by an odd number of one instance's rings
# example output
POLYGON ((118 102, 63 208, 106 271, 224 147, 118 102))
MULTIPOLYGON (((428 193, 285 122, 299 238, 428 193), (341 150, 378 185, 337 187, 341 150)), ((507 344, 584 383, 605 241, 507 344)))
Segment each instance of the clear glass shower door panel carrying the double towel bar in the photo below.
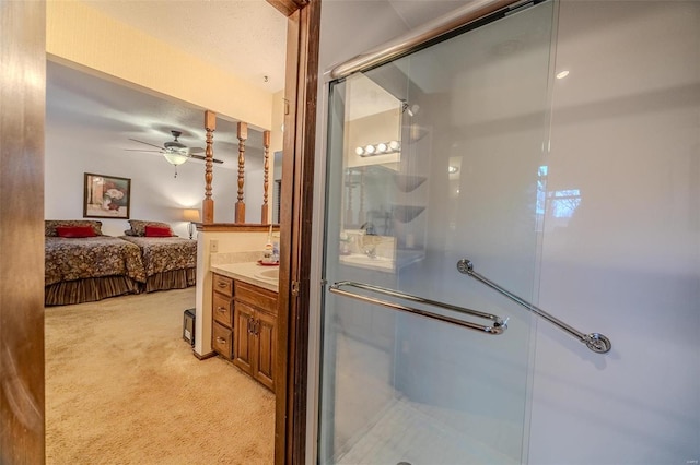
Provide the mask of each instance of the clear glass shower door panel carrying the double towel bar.
POLYGON ((320 463, 524 461, 552 13, 331 83, 320 463))

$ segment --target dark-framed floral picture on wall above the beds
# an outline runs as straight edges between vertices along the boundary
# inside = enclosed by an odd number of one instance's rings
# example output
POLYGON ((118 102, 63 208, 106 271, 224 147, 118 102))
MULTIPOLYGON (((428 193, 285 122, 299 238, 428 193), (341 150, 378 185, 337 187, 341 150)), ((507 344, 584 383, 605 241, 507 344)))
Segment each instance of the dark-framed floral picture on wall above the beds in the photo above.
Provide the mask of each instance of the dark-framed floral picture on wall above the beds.
POLYGON ((83 217, 129 219, 131 179, 85 172, 83 217))

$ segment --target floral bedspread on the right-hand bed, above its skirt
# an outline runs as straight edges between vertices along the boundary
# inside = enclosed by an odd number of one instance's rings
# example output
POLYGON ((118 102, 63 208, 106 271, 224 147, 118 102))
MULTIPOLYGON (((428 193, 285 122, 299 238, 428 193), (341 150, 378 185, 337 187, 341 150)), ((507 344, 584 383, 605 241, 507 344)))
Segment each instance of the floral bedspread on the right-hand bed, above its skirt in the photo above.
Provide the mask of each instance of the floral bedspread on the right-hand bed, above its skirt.
POLYGON ((197 241, 179 237, 124 236, 141 249, 145 276, 197 267, 197 241))

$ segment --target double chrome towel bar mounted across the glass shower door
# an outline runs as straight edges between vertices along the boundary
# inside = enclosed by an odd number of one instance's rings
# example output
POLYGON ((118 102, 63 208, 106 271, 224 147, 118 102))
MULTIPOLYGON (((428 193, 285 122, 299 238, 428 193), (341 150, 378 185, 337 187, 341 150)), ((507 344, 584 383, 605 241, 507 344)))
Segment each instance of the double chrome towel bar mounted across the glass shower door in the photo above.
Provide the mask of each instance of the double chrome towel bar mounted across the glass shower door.
POLYGON ((439 302, 436 300, 424 299, 422 297, 411 296, 410 294, 399 293, 398 290, 388 289, 386 287, 373 286, 371 284, 355 283, 352 281, 341 281, 330 285, 328 290, 330 290, 330 293, 332 294, 337 294, 340 296, 346 296, 357 300, 375 303, 375 305, 387 307, 394 310, 400 310, 400 311, 418 314, 418 315, 430 318, 433 320, 439 320, 444 323, 456 324, 457 326, 467 327, 469 330, 479 331, 486 334, 492 334, 492 335, 502 334, 508 327, 508 321, 504 321, 501 318, 491 313, 485 313, 477 310, 466 309, 466 308, 453 306, 450 303, 439 302), (482 319, 492 321, 493 325, 485 326, 481 324, 458 320, 456 318, 445 317, 445 315, 433 313, 427 310, 421 310, 413 307, 408 307, 400 303, 377 299, 374 297, 363 296, 362 294, 354 294, 349 290, 341 289, 341 287, 354 287, 358 289, 370 290, 372 293, 382 294, 384 296, 397 297, 405 300, 411 300, 419 303, 424 303, 424 305, 429 305, 429 306, 433 306, 433 307, 438 307, 446 310, 452 310, 452 311, 459 312, 463 314, 468 314, 471 317, 482 318, 482 319))

